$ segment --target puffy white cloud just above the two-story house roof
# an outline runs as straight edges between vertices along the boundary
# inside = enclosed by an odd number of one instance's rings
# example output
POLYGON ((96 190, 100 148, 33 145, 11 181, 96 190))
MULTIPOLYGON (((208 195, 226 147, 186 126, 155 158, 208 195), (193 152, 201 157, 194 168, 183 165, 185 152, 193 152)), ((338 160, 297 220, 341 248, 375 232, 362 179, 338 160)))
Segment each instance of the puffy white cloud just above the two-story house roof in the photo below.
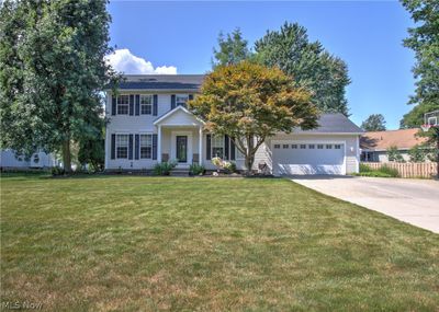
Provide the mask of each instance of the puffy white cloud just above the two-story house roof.
POLYGON ((133 55, 128 49, 117 49, 113 54, 108 55, 105 59, 117 71, 134 74, 176 74, 177 67, 175 66, 160 66, 154 68, 150 61, 142 57, 133 55))

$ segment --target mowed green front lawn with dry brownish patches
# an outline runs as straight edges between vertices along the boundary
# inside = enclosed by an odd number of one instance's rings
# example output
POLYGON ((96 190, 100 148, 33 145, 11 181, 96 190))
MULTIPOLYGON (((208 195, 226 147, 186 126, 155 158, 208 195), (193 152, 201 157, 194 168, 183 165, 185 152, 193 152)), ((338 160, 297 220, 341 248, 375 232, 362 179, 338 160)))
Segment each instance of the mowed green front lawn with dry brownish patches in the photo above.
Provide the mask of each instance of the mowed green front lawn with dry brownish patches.
POLYGON ((439 235, 278 178, 1 178, 1 301, 438 311, 439 235))

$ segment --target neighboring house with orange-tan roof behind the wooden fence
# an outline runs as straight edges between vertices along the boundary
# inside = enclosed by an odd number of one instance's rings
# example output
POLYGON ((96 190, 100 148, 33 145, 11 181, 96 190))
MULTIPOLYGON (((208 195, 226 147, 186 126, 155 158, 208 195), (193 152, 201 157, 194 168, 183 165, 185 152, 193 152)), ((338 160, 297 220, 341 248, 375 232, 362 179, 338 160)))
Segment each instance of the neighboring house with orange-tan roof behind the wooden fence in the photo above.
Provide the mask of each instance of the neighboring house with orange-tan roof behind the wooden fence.
POLYGON ((419 129, 402 129, 364 132, 361 136, 361 161, 389 162, 387 149, 396 147, 405 161, 409 161, 409 149, 426 142, 426 138, 416 135, 419 129))

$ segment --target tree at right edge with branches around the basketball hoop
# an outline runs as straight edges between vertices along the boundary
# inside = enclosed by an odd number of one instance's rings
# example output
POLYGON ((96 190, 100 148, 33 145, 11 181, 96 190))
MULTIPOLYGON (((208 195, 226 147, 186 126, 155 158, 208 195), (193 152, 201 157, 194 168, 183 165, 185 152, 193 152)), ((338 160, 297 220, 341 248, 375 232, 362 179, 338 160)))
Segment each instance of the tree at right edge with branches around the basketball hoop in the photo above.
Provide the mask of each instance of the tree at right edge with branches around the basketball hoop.
POLYGON ((401 2, 416 23, 408 28, 404 46, 416 55, 416 90, 408 103, 417 105, 401 122, 403 128, 413 128, 424 123, 425 113, 439 109, 439 5, 431 0, 401 2))

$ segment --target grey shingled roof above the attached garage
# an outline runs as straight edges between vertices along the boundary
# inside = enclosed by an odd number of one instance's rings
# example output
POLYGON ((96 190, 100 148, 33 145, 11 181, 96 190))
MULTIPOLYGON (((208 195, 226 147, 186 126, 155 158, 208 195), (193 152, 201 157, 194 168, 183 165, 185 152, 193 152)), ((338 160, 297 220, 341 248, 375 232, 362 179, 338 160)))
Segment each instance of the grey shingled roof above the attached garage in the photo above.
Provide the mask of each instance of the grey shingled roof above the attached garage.
POLYGON ((318 125, 312 130, 294 129, 294 134, 363 134, 363 130, 340 113, 322 114, 318 125))

